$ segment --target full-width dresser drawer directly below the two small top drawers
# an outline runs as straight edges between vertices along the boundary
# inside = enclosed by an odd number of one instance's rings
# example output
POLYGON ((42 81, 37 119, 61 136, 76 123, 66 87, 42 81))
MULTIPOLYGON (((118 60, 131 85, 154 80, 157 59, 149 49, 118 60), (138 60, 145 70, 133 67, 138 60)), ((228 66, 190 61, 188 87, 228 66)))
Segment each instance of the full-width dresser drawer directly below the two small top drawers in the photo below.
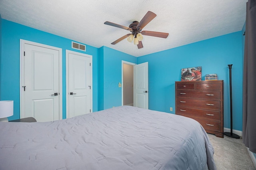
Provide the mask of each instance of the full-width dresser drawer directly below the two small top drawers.
POLYGON ((192 90, 177 90, 177 97, 196 98, 206 100, 220 100, 220 91, 192 91, 192 90))

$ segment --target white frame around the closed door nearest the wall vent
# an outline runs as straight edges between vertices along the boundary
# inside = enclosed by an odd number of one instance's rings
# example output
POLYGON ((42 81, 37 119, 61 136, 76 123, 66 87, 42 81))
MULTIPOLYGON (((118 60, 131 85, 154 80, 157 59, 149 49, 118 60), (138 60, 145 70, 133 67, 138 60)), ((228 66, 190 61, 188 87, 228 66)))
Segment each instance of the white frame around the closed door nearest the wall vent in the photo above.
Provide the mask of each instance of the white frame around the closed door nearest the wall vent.
MULTIPOLYGON (((70 50, 66 50, 66 118, 68 118, 68 115, 69 115, 69 94, 68 94, 68 91, 69 91, 69 82, 68 82, 68 78, 69 78, 69 71, 68 71, 68 54, 74 54, 74 55, 81 55, 81 56, 84 56, 84 57, 89 57, 90 58, 90 63, 91 63, 91 67, 90 67, 90 78, 91 78, 91 93, 90 93, 90 100, 91 100, 91 109, 92 109, 92 88, 93 88, 93 85, 92 85, 92 55, 88 55, 88 54, 84 54, 84 53, 78 53, 76 51, 70 51, 70 50)), ((91 110, 91 112, 93 112, 93 110, 91 110)))

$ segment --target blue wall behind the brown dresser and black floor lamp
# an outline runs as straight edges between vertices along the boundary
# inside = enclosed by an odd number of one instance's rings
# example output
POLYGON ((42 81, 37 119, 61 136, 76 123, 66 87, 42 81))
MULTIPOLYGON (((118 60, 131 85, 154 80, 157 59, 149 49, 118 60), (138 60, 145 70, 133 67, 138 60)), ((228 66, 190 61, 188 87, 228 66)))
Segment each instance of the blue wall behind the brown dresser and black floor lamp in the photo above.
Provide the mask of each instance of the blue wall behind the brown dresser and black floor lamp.
POLYGON ((202 75, 216 73, 224 80, 224 127, 230 128, 228 64, 233 64, 233 128, 242 131, 242 34, 238 31, 138 57, 138 64, 148 61, 149 109, 175 113, 175 81, 181 80, 181 68, 202 66, 202 75))

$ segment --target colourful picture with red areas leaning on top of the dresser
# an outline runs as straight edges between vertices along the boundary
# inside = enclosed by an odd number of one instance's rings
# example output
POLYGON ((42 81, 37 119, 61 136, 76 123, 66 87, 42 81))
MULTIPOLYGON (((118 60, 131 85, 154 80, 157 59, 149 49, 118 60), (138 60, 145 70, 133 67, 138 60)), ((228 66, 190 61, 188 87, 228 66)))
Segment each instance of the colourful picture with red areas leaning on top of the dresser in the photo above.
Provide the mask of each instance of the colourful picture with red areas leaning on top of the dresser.
POLYGON ((202 80, 202 66, 181 69, 181 81, 196 80, 202 80))

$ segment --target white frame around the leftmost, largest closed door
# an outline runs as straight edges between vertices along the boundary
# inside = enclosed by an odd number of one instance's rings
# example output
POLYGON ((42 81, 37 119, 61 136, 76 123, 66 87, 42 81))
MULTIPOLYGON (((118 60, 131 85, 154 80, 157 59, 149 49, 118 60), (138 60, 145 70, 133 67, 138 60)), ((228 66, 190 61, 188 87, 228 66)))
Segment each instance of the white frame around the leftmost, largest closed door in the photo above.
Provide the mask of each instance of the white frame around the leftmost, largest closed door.
POLYGON ((24 48, 25 44, 36 45, 48 49, 54 49, 59 51, 59 119, 62 119, 62 49, 53 47, 50 45, 35 43, 33 41, 27 41, 20 39, 20 118, 25 118, 25 94, 24 94, 24 48))

